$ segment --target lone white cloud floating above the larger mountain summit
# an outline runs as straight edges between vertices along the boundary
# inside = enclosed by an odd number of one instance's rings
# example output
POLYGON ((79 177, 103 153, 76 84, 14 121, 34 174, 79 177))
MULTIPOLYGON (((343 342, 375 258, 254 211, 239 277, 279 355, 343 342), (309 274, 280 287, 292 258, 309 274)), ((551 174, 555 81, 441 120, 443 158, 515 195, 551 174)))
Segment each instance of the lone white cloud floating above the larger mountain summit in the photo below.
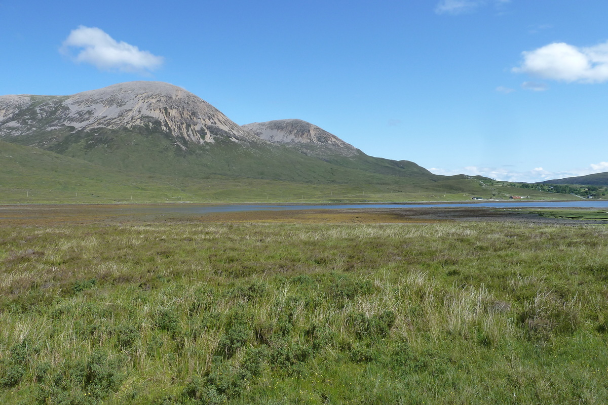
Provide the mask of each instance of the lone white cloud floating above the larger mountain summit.
POLYGON ((61 53, 70 55, 78 63, 89 63, 101 70, 145 72, 160 67, 164 61, 147 50, 118 42, 103 30, 80 26, 70 32, 61 53))

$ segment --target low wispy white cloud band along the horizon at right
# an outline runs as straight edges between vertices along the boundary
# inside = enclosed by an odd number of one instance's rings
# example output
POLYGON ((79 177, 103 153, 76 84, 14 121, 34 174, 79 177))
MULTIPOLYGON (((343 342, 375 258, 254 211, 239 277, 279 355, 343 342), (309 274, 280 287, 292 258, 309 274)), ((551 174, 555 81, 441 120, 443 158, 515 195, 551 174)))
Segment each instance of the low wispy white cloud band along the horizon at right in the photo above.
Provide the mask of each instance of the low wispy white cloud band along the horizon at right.
POLYGON ((513 166, 505 165, 496 167, 465 166, 456 169, 430 168, 430 172, 443 175, 467 174, 482 175, 490 179, 503 182, 526 182, 536 183, 545 180, 564 179, 565 177, 577 177, 581 175, 600 173, 608 171, 608 162, 591 163, 587 168, 571 169, 566 171, 550 171, 542 167, 536 167, 526 171, 517 171, 513 166))

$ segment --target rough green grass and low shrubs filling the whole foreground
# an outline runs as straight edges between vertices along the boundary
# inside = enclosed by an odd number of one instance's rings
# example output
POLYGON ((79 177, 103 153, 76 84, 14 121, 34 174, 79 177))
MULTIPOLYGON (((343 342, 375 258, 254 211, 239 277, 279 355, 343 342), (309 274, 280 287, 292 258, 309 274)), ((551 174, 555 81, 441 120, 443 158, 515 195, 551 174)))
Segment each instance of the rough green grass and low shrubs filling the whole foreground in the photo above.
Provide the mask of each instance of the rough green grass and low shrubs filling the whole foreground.
POLYGON ((6 404, 605 404, 608 229, 0 228, 6 404))

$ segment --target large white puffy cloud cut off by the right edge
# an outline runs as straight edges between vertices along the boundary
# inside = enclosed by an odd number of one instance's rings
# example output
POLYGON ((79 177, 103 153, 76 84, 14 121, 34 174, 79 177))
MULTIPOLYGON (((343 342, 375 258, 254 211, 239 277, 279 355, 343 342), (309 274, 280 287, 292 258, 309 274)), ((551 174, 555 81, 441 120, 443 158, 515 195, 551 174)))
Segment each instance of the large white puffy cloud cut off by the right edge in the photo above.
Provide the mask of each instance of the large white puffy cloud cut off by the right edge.
POLYGON ((522 52, 523 61, 512 70, 568 83, 608 81, 608 41, 592 47, 553 43, 522 52))

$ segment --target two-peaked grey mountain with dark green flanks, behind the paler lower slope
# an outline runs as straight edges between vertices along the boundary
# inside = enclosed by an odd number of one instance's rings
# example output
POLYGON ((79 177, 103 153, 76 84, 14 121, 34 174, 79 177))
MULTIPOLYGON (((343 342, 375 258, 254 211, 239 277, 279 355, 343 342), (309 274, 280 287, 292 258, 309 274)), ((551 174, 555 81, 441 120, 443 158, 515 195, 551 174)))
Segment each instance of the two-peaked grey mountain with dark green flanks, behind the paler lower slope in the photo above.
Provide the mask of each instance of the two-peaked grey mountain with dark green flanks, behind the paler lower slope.
POLYGON ((218 187, 218 182, 224 182, 219 188, 238 182, 243 190, 244 180, 250 187, 267 190, 272 182, 289 182, 293 187, 282 183, 282 189, 300 196, 310 185, 326 188, 331 195, 338 185, 348 192, 431 196, 483 191, 478 180, 467 176, 435 175, 407 160, 368 156, 302 120, 240 126, 181 87, 153 81, 69 96, 2 96, 0 141, 55 152, 133 178, 145 175, 152 182, 184 183, 193 196, 201 195, 196 187, 218 187), (260 186, 256 179, 271 183, 260 186))

